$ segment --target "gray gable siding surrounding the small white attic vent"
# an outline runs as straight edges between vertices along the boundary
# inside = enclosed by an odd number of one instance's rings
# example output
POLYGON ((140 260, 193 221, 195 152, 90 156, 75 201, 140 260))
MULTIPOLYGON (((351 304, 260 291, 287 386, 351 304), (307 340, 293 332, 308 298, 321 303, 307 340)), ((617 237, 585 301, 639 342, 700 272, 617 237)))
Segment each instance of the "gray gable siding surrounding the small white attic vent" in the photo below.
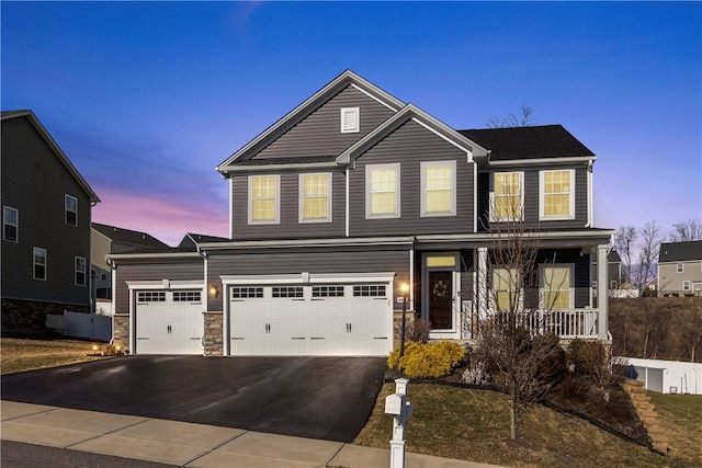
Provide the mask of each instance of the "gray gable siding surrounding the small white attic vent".
POLYGON ((349 85, 261 150, 254 158, 339 155, 393 114, 394 112, 388 107, 349 85), (341 107, 360 107, 359 133, 341 133, 341 107))

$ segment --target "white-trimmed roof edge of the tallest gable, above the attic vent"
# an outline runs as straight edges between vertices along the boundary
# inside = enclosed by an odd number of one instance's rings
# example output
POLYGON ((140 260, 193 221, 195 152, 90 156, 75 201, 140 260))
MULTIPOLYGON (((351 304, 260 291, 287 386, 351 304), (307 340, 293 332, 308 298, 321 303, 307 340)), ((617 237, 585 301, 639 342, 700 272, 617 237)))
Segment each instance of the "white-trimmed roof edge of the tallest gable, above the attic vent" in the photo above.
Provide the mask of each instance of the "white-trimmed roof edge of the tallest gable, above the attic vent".
POLYGON ((216 170, 223 174, 226 173, 228 165, 237 160, 248 159, 253 153, 260 151, 270 142, 279 138, 285 132, 287 132, 309 114, 312 114, 315 110, 321 106, 339 91, 350 84, 353 84, 362 92, 371 95, 373 99, 383 103, 393 111, 398 111, 403 106, 405 106, 405 103, 397 98, 388 94, 370 81, 366 81, 365 79, 359 77, 353 71, 346 70, 343 73, 339 75, 337 78, 327 83, 322 89, 305 100, 297 107, 285 114, 283 118, 279 119, 276 123, 268 127, 265 130, 263 130, 263 133, 261 133, 259 136, 246 144, 241 149, 223 161, 219 165, 217 165, 216 170))

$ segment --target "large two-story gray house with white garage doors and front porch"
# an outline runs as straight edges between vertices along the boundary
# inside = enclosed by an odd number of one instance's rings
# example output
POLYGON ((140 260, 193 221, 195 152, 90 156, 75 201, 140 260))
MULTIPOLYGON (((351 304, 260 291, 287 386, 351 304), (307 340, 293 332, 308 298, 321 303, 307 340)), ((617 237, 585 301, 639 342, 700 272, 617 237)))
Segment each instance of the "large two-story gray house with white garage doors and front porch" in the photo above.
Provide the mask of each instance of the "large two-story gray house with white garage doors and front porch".
POLYGON ((607 297, 613 231, 592 226, 595 160, 561 125, 457 132, 344 71, 217 167, 228 239, 110 255, 115 340, 135 353, 387 355, 404 310, 432 339, 467 340, 510 292, 490 249, 510 219, 539 247, 524 300, 552 299, 557 310, 534 312, 547 330, 608 340, 590 263, 607 297))

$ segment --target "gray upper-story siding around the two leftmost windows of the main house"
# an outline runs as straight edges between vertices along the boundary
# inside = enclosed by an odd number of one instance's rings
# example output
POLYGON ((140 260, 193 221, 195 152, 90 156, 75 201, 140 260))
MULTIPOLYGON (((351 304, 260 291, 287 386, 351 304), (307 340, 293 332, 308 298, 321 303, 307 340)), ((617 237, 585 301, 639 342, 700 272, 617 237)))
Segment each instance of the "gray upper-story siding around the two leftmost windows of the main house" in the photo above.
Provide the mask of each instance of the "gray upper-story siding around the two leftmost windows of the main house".
MULTIPOLYGON (((315 171, 283 172, 281 176, 281 213, 278 225, 248 224, 248 175, 235 175, 231 183, 234 222, 231 239, 296 239, 343 237, 346 233, 346 173, 331 173, 331 222, 299 222, 299 174, 315 171)), ((318 171, 329 172, 329 171, 318 171)))

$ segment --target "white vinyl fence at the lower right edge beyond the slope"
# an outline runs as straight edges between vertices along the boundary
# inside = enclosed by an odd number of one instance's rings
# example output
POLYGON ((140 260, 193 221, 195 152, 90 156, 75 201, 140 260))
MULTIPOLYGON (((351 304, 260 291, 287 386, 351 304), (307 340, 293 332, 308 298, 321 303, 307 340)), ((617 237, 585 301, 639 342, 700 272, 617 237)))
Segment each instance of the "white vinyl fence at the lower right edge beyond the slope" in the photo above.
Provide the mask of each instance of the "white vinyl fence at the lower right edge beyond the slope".
POLYGON ((643 381, 647 390, 660 393, 702 395, 702 363, 636 357, 623 359, 629 362, 626 377, 643 381))

